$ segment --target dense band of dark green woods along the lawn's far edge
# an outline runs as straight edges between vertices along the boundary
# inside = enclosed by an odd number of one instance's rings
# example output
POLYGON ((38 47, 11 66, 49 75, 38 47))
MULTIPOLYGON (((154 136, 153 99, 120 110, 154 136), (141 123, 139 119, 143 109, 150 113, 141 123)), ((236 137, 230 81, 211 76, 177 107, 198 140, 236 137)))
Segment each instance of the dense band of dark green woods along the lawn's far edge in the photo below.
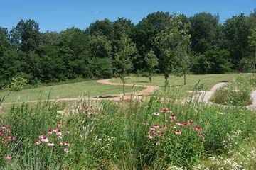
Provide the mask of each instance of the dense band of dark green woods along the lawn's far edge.
POLYGON ((250 37, 255 28, 256 11, 224 23, 210 13, 188 18, 156 12, 137 25, 126 18, 104 19, 85 30, 60 33, 41 33, 36 21, 21 20, 11 30, 0 27, 0 88, 13 77, 36 84, 114 74, 121 78, 122 72, 158 72, 167 79, 170 73, 245 72, 253 68, 250 37))

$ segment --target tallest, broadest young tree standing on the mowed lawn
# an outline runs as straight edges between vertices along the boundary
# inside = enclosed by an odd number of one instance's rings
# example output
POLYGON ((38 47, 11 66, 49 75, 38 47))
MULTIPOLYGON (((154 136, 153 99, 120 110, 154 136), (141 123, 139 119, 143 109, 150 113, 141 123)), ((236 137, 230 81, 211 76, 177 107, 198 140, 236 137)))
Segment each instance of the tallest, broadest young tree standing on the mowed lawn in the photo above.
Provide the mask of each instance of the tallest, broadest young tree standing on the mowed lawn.
POLYGON ((154 40, 159 50, 159 67, 164 72, 165 84, 169 84, 169 74, 177 69, 178 48, 183 45, 188 35, 188 25, 183 23, 181 15, 174 15, 169 19, 169 24, 161 31, 154 40))

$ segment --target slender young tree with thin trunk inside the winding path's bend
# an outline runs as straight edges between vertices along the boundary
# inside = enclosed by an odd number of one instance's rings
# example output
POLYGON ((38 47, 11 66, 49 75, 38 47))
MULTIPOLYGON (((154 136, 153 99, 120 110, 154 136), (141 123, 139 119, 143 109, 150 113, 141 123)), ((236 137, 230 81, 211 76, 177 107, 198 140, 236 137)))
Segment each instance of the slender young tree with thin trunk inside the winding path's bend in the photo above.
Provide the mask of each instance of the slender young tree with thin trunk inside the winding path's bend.
POLYGON ((117 41, 114 54, 114 72, 122 80, 123 94, 125 96, 125 75, 132 69, 132 60, 137 53, 135 44, 126 34, 122 34, 117 41))

